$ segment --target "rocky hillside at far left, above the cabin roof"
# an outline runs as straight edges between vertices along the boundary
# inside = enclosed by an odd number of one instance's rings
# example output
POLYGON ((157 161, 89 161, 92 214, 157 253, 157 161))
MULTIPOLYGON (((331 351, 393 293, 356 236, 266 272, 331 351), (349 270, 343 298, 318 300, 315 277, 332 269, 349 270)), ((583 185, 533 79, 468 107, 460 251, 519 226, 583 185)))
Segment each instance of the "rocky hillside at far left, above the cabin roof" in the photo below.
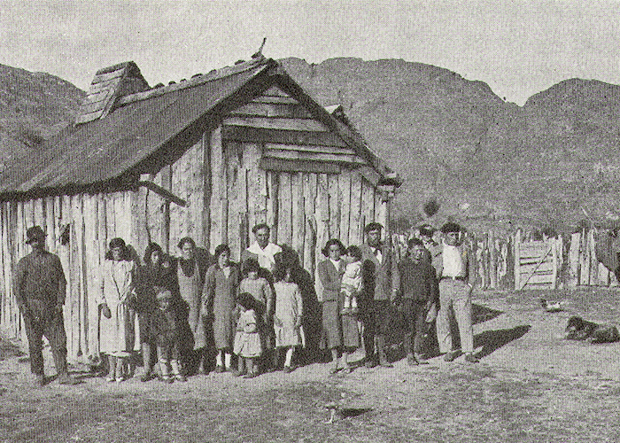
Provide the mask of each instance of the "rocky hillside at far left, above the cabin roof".
POLYGON ((0 171, 66 127, 84 95, 54 75, 0 65, 0 171))

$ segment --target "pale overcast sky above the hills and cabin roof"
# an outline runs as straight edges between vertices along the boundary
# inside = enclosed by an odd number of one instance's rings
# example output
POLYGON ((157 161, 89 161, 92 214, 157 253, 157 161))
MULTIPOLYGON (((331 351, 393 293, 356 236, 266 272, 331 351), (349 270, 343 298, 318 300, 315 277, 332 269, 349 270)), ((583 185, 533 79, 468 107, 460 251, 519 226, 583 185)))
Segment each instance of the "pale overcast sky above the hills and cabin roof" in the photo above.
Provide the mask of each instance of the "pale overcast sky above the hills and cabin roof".
POLYGON ((564 79, 620 83, 618 2, 0 0, 0 64, 88 89, 134 60, 151 84, 250 58, 403 58, 527 97, 564 79))

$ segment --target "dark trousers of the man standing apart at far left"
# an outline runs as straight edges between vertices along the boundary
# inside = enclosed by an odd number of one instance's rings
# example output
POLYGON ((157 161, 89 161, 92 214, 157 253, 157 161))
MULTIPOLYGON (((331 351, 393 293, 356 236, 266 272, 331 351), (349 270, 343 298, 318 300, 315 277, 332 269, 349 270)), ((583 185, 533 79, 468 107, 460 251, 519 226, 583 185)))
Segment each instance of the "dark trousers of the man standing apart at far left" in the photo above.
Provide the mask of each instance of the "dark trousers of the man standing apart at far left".
POLYGON ((43 376, 43 336, 50 342, 54 364, 58 374, 66 373, 66 332, 62 313, 54 305, 41 300, 28 299, 28 312, 24 313, 24 325, 28 338, 30 370, 43 376))

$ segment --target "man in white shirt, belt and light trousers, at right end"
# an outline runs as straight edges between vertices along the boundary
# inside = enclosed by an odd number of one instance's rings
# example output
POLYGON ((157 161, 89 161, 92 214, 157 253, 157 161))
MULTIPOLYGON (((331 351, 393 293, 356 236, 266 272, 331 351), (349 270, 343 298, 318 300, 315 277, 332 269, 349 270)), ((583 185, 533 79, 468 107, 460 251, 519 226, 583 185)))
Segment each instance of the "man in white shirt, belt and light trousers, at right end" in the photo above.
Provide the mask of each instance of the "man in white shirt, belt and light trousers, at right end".
POLYGON ((439 313, 437 336, 439 351, 445 361, 453 361, 457 354, 452 348, 450 317, 454 315, 461 334, 461 351, 465 361, 477 363, 474 355, 474 330, 471 323, 471 290, 474 273, 471 270, 471 252, 462 241, 461 226, 452 221, 442 228, 444 234, 441 255, 438 259, 439 313))

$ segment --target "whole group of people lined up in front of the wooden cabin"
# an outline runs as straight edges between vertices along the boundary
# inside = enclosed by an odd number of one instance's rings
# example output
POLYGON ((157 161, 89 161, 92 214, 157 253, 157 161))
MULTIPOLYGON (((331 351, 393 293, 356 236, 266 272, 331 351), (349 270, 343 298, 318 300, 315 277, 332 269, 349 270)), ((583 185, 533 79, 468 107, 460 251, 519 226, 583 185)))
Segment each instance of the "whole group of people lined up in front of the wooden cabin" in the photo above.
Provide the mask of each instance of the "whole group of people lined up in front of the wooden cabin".
MULTIPOLYGON (((212 369, 247 378, 280 368, 291 372, 295 349, 306 344, 302 293, 307 290, 316 291, 321 306, 322 344, 331 354, 333 374, 353 370, 351 354, 362 344, 368 368, 391 367, 387 336, 398 312, 404 320, 408 364, 425 362, 424 338, 435 319, 444 359, 458 356, 452 343, 453 317, 465 360, 476 362, 473 275, 461 227, 446 223, 440 244, 433 241, 429 226, 422 227, 420 235, 409 240, 402 260, 381 242, 382 229, 369 223, 360 246, 345 247, 337 238, 329 239, 322 249, 325 259, 316 267, 316 288, 309 283, 312 279, 300 277, 296 253, 269 242, 265 223, 252 229, 255 242, 242 252, 240 264, 231 260, 228 245, 217 246, 211 257, 184 237, 177 245, 179 257, 151 243, 143 265, 137 266, 125 242, 113 238, 96 300, 107 380, 131 377, 130 358, 138 350, 145 382, 154 377, 167 383, 185 381, 188 375, 212 369)), ((62 266, 56 255, 45 251, 40 227, 27 229, 27 244, 33 252, 19 260, 15 294, 26 324, 31 369, 43 385, 45 335, 59 382, 73 384, 66 369, 62 266)))

